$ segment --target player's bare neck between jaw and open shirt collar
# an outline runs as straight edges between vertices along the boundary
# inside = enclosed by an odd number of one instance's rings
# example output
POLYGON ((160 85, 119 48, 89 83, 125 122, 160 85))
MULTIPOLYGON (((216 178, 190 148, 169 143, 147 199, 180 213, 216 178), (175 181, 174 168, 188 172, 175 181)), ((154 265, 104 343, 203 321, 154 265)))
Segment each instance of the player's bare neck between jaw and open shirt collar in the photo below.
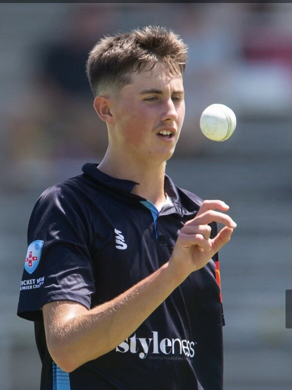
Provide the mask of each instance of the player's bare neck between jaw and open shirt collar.
POLYGON ((136 181, 132 193, 145 197, 159 209, 166 200, 164 192, 164 175, 166 162, 128 161, 125 158, 115 159, 109 150, 98 165, 102 172, 116 178, 136 181))

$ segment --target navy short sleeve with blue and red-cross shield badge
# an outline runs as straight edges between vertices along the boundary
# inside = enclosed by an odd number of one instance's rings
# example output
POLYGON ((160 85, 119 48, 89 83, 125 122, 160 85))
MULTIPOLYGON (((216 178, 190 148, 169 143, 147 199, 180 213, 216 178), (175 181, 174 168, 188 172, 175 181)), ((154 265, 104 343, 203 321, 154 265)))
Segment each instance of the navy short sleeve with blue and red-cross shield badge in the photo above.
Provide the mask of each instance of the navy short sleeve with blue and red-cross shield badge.
POLYGON ((90 226, 85 201, 72 188, 58 184, 42 193, 28 223, 17 315, 41 319, 41 307, 55 300, 90 308, 95 291, 90 226))

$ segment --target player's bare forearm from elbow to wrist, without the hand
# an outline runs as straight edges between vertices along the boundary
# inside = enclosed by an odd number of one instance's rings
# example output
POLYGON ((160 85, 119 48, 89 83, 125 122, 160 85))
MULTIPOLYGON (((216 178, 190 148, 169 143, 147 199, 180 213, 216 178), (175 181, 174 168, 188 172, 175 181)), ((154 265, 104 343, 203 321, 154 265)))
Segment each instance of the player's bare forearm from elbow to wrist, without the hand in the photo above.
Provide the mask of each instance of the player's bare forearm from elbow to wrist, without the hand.
MULTIPOLYGON (((183 281, 169 263, 112 299, 64 321, 50 332, 61 367, 73 370, 115 348, 183 281), (65 362, 65 363, 63 363, 65 362)), ((59 317, 62 317, 60 312, 59 317)), ((50 344, 48 342, 48 344, 50 344)), ((58 362, 57 362, 58 363, 58 362)))

